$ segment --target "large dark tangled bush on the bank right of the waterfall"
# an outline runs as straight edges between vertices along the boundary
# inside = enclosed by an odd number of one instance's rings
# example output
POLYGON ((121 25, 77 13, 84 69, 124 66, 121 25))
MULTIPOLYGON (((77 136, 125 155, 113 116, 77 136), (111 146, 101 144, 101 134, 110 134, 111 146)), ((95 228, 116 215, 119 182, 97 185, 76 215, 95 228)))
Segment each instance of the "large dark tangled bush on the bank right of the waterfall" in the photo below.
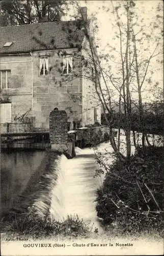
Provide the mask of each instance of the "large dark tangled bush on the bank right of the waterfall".
POLYGON ((104 224, 123 232, 163 228, 163 147, 139 147, 130 163, 115 161, 97 190, 104 224))

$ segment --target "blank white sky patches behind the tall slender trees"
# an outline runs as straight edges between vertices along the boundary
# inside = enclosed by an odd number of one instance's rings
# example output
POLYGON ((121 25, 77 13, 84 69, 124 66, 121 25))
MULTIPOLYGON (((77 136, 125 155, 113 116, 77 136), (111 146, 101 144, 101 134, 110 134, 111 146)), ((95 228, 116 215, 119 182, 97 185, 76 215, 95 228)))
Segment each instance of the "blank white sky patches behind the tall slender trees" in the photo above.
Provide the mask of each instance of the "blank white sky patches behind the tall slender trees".
MULTIPOLYGON (((159 2, 161 1, 160 0, 145 0, 145 1, 138 0, 137 1, 138 7, 139 9, 141 9, 141 12, 143 11, 143 8, 144 8, 144 13, 141 15, 144 17, 145 23, 147 25, 145 29, 147 31, 149 30, 148 26, 154 17, 154 8, 158 5, 159 2)), ((116 39, 115 41, 112 40, 112 38, 115 35, 112 22, 115 23, 115 21, 114 21, 114 15, 111 13, 111 10, 112 10, 111 1, 95 0, 95 1, 87 1, 87 3, 86 1, 80 1, 80 5, 81 7, 87 6, 89 19, 92 17, 93 14, 95 14, 97 17, 97 25, 98 25, 99 31, 98 31, 98 34, 95 35, 95 37, 96 39, 99 38, 99 41, 97 41, 97 44, 99 46, 98 51, 101 53, 104 50, 104 52, 107 53, 109 51, 109 48, 106 47, 106 44, 108 43, 111 44, 112 46, 119 47, 119 39, 116 39), (103 10, 103 6, 105 6, 106 8, 109 8, 110 11, 106 12, 106 10, 103 10)), ((73 10, 71 10, 69 13, 72 15, 73 10)), ((70 19, 70 18, 67 16, 66 19, 70 19)), ((152 46, 152 49, 153 49, 153 46, 152 46)), ((116 65, 114 66, 114 63, 112 63, 112 65, 115 69, 116 65)), ((156 65, 157 63, 156 63, 156 60, 154 59, 153 60, 154 67, 153 66, 152 67, 157 71, 153 75, 153 78, 155 78, 154 80, 156 80, 156 78, 158 77, 158 81, 160 82, 160 87, 163 87, 163 68, 162 66, 157 67, 156 65)), ((145 96, 143 95, 144 101, 148 100, 148 99, 146 100, 146 97, 152 98, 152 94, 150 92, 145 92, 145 96)))

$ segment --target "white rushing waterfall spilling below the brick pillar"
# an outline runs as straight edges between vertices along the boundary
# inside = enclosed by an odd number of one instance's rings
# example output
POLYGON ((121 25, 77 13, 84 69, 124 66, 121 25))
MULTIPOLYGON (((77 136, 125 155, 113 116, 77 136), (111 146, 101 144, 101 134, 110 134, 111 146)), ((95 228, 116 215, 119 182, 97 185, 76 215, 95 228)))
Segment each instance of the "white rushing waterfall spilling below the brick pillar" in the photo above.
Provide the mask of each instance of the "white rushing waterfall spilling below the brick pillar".
POLYGON ((37 214, 49 220, 62 221, 67 216, 78 215, 79 219, 91 222, 93 227, 98 222, 96 206, 96 189, 101 185, 100 178, 95 177, 97 163, 93 148, 83 150, 75 148, 76 157, 67 159, 64 155, 47 159, 46 174, 41 186, 45 188, 33 203, 37 214))

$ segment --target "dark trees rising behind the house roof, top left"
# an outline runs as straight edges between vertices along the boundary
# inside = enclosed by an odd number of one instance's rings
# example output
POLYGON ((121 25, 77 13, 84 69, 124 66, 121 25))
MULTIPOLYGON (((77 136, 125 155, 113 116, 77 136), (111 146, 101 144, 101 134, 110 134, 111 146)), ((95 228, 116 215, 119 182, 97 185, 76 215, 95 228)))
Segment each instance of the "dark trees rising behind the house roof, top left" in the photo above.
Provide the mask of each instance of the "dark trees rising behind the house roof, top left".
POLYGON ((53 22, 68 11, 67 1, 1 1, 1 26, 53 22))

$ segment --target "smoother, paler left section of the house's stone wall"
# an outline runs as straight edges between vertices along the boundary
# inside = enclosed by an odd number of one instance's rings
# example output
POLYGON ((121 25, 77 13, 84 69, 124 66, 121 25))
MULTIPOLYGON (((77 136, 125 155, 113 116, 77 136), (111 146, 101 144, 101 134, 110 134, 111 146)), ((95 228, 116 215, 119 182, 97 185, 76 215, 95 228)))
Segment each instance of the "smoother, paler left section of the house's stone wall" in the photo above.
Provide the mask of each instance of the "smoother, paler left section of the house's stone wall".
MULTIPOLYGON (((33 66, 29 55, 1 56, 1 70, 11 70, 10 89, 2 89, 1 98, 10 98, 11 117, 21 116, 33 109, 33 66)), ((33 111, 28 113, 33 116, 33 111)))

